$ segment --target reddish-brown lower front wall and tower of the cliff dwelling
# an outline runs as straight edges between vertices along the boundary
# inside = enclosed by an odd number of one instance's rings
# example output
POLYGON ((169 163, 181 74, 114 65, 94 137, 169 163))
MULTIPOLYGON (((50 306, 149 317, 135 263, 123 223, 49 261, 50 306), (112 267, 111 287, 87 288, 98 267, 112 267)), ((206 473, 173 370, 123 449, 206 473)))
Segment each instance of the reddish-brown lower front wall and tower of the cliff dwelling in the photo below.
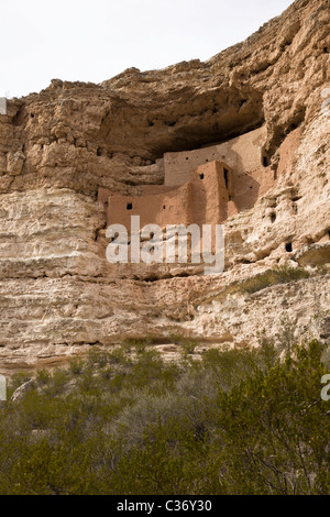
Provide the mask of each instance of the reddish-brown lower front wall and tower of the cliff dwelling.
POLYGON ((227 207, 233 195, 232 169, 223 162, 210 162, 189 174, 189 180, 176 188, 147 186, 143 196, 119 196, 99 190, 107 197, 107 223, 131 226, 131 216, 140 216, 141 228, 155 223, 211 224, 227 219, 227 207))

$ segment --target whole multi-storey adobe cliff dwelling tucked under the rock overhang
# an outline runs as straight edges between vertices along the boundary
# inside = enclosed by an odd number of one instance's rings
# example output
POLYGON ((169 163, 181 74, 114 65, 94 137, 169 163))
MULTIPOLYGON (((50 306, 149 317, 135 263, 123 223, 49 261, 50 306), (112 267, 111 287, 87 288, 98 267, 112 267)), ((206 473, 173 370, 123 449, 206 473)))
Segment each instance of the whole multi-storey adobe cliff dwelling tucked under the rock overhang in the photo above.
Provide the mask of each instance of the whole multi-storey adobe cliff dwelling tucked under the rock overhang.
POLYGON ((119 195, 99 188, 107 226, 130 228, 131 216, 141 226, 220 224, 252 208, 274 184, 274 170, 264 153, 265 125, 223 143, 193 151, 169 152, 157 161, 163 185, 145 185, 141 195, 119 195))

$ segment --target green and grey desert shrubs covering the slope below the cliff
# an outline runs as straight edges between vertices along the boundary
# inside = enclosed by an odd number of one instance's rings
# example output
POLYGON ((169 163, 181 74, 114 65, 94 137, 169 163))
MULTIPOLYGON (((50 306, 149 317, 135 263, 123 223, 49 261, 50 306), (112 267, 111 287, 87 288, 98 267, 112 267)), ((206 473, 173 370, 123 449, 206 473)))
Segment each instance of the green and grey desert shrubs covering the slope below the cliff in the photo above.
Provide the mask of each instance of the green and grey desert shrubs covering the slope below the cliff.
POLYGON ((264 340, 194 358, 94 348, 15 375, 0 405, 0 494, 329 494, 327 346, 279 356, 264 340))

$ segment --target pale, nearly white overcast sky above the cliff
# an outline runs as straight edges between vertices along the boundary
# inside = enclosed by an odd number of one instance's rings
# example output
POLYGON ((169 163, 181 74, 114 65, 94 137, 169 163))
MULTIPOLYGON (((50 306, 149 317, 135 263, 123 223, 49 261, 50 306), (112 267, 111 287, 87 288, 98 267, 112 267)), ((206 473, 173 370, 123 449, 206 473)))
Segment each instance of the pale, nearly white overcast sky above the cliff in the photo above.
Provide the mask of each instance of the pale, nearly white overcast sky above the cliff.
POLYGON ((209 59, 293 0, 2 0, 0 96, 209 59))

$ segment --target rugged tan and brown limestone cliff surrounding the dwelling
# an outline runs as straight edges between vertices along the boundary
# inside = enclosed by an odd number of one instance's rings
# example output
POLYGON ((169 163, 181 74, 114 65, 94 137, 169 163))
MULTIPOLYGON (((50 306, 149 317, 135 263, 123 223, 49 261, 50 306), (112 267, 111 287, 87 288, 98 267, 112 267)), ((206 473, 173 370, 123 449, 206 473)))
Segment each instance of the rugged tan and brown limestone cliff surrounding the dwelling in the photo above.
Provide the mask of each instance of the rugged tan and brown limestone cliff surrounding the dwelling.
POLYGON ((297 321, 297 338, 330 337, 329 22, 329 0, 297 0, 206 63, 132 68, 100 85, 55 79, 8 101, 1 371, 128 337, 148 336, 167 350, 173 333, 206 346, 256 343, 257 332, 275 336, 284 320, 297 321), (107 262, 99 189, 140 196, 164 184, 164 154, 257 128, 268 163, 255 177, 272 182, 228 215, 222 274, 107 262), (310 276, 254 294, 231 287, 287 261, 310 276))

